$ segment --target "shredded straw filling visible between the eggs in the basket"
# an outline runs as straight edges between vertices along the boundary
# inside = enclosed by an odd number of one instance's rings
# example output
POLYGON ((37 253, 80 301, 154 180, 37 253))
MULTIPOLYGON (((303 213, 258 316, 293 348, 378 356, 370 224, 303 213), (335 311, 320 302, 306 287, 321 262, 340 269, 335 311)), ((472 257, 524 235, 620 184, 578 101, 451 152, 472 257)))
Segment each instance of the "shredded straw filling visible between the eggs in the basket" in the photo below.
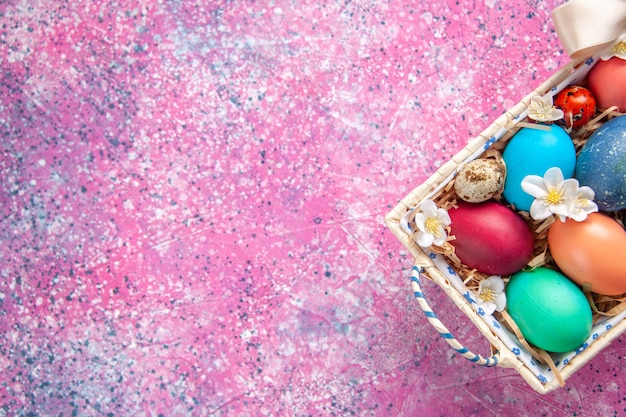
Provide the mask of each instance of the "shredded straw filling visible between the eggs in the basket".
MULTIPOLYGON (((620 116, 621 113, 616 111, 616 108, 607 109, 606 111, 600 112, 596 115, 596 117, 591 120, 586 126, 580 128, 577 131, 570 132, 570 137, 576 147, 577 153, 583 147, 589 136, 604 122, 610 120, 613 117, 620 116)), ((517 126, 512 128, 507 135, 505 135, 501 140, 494 143, 487 151, 485 151, 480 158, 493 158, 496 162, 499 162, 504 166, 502 161, 501 151, 506 147, 507 142, 514 136, 514 134, 519 130, 520 127, 533 127, 532 123, 528 123, 528 121, 519 123, 517 126)), ((534 125, 537 128, 540 128, 537 125, 534 125)), ((460 168, 460 167, 459 167, 460 168)), ((450 180, 438 193, 433 195, 431 199, 437 203, 437 205, 443 209, 450 209, 457 206, 457 195, 454 190, 454 178, 450 180)), ((506 204, 505 201, 502 200, 501 192, 496 194, 493 197, 494 200, 499 201, 501 203, 506 204)), ((533 233, 535 235, 535 250, 534 257, 529 262, 527 268, 536 268, 539 266, 546 266, 552 269, 558 270, 558 266, 553 261, 550 250, 548 248, 548 230, 550 225, 555 221, 554 217, 550 217, 543 221, 536 221, 532 219, 527 212, 519 212, 518 213, 524 217, 524 219, 528 222, 533 233)), ((610 214, 615 220, 620 222, 622 226, 624 226, 624 211, 616 212, 616 213, 607 213, 610 214)), ((414 228, 413 230, 417 230, 414 228)), ((477 292, 480 281, 486 279, 488 275, 480 273, 475 269, 470 269, 466 265, 460 261, 460 259, 454 253, 454 246, 450 243, 454 240, 454 236, 449 236, 448 241, 444 243, 442 246, 437 247, 434 246, 432 249, 435 252, 440 253, 444 256, 446 261, 450 266, 452 266, 458 275, 464 280, 465 285, 470 290, 474 290, 477 292)), ((502 277, 505 282, 508 282, 509 277, 502 277)), ((593 311, 593 321, 596 323, 599 319, 606 316, 617 315, 623 310, 626 309, 626 294, 620 296, 604 296, 600 294, 595 294, 589 292, 588 289, 583 288, 587 295, 587 299, 591 305, 593 311)), ((509 330, 513 331, 518 338, 520 338, 520 342, 525 344, 523 340, 523 336, 521 336, 521 332, 517 329, 513 320, 508 316, 506 310, 502 313, 495 313, 499 319, 509 327, 509 330)), ((526 346, 529 352, 535 356, 540 362, 551 363, 549 357, 546 357, 546 353, 541 350, 535 350, 531 346, 526 346)))

